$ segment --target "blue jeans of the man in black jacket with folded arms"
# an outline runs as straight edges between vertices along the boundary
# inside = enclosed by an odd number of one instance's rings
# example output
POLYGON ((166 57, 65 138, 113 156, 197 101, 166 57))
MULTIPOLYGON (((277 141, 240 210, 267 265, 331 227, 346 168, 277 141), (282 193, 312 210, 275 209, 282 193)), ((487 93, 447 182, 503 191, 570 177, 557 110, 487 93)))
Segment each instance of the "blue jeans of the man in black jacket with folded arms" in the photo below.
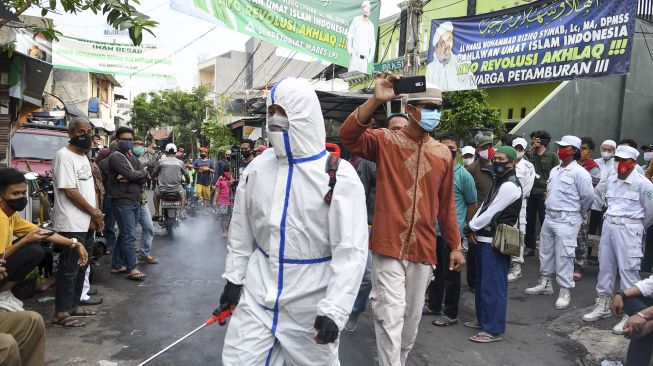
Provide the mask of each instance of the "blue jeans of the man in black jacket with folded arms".
POLYGON ((113 206, 113 214, 118 223, 118 240, 111 259, 111 268, 120 269, 123 266, 128 271, 136 268, 136 226, 140 205, 113 206))

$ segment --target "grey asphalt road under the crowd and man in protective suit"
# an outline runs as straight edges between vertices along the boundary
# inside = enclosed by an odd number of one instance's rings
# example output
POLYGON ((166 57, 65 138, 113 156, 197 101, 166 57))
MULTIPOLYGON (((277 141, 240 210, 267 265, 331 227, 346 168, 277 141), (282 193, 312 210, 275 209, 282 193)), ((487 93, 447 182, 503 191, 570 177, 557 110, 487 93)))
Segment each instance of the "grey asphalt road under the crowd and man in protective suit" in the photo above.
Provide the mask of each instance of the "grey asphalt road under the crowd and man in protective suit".
MULTIPOLYGON (((224 282, 226 241, 213 216, 189 219, 171 242, 155 225, 156 265, 141 265, 144 282, 109 273, 103 257, 95 283, 104 303, 83 329, 53 328, 52 290, 26 301, 46 319, 49 365, 136 365, 201 325, 217 306, 224 282)), ((408 365, 592 365, 605 358, 622 359, 627 343, 613 336, 616 319, 583 324, 582 314, 594 301, 596 268, 572 292, 572 306, 554 308, 555 297, 529 297, 522 290, 537 279, 538 261, 527 259, 525 277, 510 286, 508 329, 503 342, 474 344, 462 324, 436 328, 425 316, 408 365)), ((463 275, 464 278, 464 275, 463 275)), ((463 281, 464 282, 464 281, 463 281)), ((463 285, 460 320, 472 320, 473 294, 463 285)), ((212 325, 150 363, 151 365, 220 365, 225 328, 212 325)), ((358 329, 343 332, 343 366, 376 364, 376 346, 368 308, 358 329)))

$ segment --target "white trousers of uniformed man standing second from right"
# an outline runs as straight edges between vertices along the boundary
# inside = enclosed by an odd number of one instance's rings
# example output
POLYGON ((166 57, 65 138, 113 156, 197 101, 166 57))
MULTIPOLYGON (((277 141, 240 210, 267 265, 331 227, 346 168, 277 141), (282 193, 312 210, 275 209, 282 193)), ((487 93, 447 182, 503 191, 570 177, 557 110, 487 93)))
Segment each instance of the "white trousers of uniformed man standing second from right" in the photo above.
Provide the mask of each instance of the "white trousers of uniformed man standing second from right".
POLYGON ((540 231, 540 273, 553 278, 560 287, 574 288, 574 258, 578 231, 583 218, 580 212, 546 211, 540 231))

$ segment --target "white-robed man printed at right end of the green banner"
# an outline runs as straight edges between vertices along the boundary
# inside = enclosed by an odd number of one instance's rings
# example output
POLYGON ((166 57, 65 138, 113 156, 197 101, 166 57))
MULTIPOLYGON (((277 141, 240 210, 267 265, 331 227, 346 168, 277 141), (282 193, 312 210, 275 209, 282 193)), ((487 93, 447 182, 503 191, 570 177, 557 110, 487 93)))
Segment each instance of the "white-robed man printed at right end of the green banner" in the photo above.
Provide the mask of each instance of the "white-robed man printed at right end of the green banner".
POLYGON ((370 20, 372 6, 368 0, 361 4, 363 15, 352 20, 347 31, 347 51, 349 51, 349 71, 360 71, 367 74, 370 61, 373 61, 376 49, 374 38, 374 23, 370 20))

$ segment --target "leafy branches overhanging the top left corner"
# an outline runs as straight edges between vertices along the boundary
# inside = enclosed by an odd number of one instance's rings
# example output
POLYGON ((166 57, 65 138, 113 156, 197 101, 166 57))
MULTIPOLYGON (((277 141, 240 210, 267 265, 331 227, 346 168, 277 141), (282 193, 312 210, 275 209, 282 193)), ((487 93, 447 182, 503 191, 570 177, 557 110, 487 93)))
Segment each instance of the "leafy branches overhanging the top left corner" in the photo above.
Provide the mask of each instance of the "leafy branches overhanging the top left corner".
MULTIPOLYGON (((106 16, 107 24, 114 29, 127 30, 129 38, 134 45, 143 42, 143 31, 152 35, 152 28, 158 22, 151 20, 147 15, 139 12, 132 4, 140 4, 139 0, 3 0, 5 6, 16 15, 21 15, 27 9, 41 9, 41 17, 48 13, 57 13, 63 9, 64 13, 75 14, 90 10, 93 14, 102 13, 106 16)), ((42 19, 43 26, 28 26, 35 34, 42 34, 48 40, 58 40, 61 32, 57 31, 52 21, 42 19)), ((0 21, 0 28, 7 25, 7 21, 0 21)))

